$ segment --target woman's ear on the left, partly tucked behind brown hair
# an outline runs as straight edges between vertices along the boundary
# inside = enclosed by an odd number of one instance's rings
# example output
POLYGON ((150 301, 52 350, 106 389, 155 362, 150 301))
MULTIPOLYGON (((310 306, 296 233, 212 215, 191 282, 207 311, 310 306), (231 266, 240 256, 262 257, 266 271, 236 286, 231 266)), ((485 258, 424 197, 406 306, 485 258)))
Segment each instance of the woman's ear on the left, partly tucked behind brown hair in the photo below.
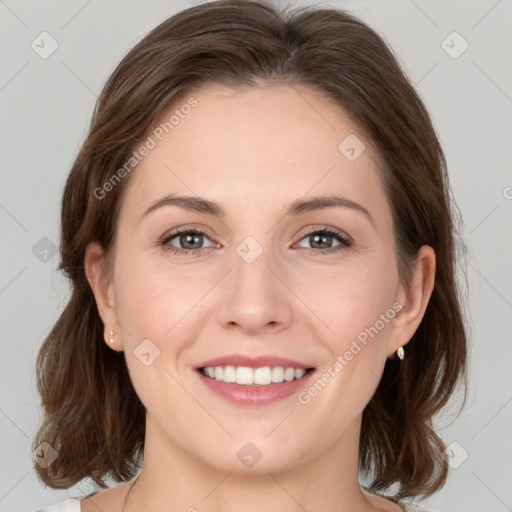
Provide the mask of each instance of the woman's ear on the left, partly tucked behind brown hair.
POLYGON ((91 286, 96 299, 96 305, 100 318, 103 321, 103 337, 108 347, 115 351, 122 350, 122 343, 116 334, 119 333, 119 324, 114 305, 114 291, 110 277, 106 271, 105 256, 101 245, 97 242, 91 242, 85 250, 85 275, 91 286), (114 335, 110 334, 113 331, 114 335), (111 342, 110 340, 114 340, 111 342))

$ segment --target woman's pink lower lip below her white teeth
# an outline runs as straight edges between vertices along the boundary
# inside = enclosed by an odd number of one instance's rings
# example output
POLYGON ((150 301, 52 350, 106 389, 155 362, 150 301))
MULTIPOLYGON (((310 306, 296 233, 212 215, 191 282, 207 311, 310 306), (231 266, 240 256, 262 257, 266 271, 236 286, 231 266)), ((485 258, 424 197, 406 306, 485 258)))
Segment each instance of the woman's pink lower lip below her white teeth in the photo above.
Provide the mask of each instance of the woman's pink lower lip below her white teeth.
POLYGON ((268 405, 284 398, 298 393, 308 384, 314 370, 308 371, 300 379, 289 382, 276 382, 266 386, 261 385, 242 385, 235 382, 223 382, 206 377, 198 371, 200 379, 214 393, 217 393, 225 400, 236 405, 268 405))

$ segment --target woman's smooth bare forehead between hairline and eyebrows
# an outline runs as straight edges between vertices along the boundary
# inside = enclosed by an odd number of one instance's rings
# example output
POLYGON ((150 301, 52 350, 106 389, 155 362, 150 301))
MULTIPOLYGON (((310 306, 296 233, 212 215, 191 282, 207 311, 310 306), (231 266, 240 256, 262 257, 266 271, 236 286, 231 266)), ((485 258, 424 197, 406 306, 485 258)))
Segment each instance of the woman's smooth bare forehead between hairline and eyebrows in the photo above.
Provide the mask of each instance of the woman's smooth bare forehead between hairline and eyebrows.
POLYGON ((158 128, 126 192, 125 202, 140 203, 130 208, 138 214, 171 192, 265 208, 278 192, 286 203, 336 191, 358 202, 382 201, 371 142, 312 88, 210 85, 182 95, 158 128), (354 151, 346 153, 347 146, 354 151), (361 154, 354 159, 354 152, 361 154))

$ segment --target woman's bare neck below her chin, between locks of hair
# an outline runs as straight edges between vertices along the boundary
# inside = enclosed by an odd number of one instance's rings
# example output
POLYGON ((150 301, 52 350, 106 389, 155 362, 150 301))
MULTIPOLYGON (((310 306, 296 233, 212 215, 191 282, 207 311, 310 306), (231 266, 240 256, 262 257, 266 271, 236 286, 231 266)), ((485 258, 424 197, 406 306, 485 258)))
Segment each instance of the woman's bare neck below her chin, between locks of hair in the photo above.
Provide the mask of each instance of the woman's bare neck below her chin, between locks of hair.
POLYGON ((163 437, 147 417, 144 464, 125 512, 183 510, 214 512, 373 511, 359 485, 360 420, 326 452, 293 467, 212 467, 163 437))

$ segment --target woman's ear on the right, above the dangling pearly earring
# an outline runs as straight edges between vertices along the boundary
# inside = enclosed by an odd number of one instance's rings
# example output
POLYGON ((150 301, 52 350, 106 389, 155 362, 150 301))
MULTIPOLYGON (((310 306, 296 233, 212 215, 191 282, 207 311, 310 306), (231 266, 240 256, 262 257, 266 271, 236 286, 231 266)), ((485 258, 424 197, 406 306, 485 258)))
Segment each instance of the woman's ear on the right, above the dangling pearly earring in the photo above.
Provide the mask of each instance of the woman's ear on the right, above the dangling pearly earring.
POLYGON ((401 285, 398 290, 396 302, 402 307, 393 318, 387 348, 388 357, 391 357, 398 347, 409 343, 420 325, 434 289, 435 272, 434 249, 424 245, 418 251, 410 285, 401 285))

